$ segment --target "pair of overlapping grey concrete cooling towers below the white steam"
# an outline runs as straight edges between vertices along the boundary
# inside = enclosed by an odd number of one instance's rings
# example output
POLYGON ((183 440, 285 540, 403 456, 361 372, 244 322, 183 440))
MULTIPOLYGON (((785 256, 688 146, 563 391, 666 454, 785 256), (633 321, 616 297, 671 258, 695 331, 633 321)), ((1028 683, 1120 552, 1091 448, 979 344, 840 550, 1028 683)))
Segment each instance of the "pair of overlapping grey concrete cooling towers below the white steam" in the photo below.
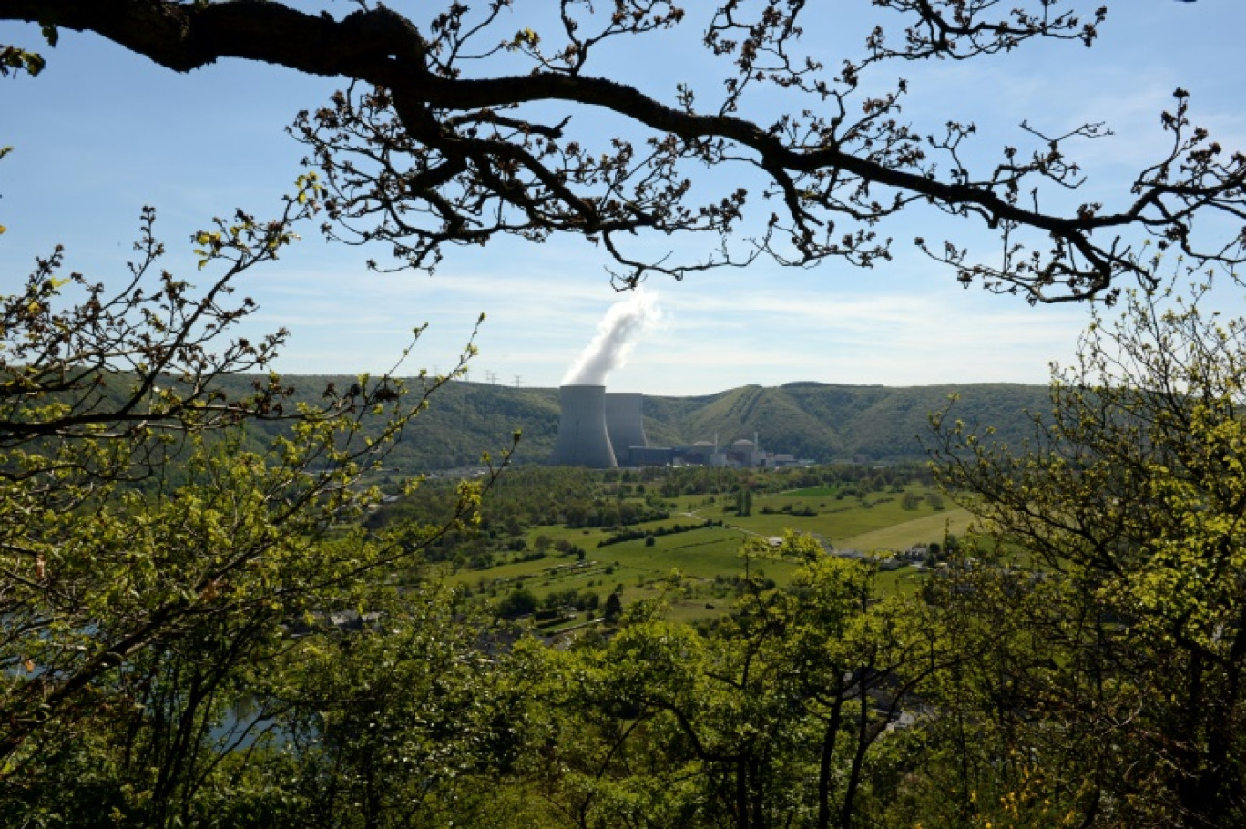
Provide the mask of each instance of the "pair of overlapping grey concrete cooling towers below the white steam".
POLYGON ((643 395, 607 394, 604 385, 564 385, 558 395, 562 419, 549 464, 611 469, 633 464, 632 450, 647 446, 643 395))

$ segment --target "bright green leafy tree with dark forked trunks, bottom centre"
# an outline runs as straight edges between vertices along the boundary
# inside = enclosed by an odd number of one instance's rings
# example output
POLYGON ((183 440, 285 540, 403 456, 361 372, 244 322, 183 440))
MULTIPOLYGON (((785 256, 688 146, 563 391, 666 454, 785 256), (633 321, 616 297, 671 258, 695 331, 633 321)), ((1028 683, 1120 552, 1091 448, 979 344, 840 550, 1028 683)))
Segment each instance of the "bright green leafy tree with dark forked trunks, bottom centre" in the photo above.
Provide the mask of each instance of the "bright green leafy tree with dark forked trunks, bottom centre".
POLYGON ((931 643, 871 605, 865 565, 785 545, 806 557, 790 587, 746 575, 708 632, 632 608, 604 647, 545 654, 531 773, 558 825, 849 827, 886 803, 866 769, 906 742, 888 718, 931 643))

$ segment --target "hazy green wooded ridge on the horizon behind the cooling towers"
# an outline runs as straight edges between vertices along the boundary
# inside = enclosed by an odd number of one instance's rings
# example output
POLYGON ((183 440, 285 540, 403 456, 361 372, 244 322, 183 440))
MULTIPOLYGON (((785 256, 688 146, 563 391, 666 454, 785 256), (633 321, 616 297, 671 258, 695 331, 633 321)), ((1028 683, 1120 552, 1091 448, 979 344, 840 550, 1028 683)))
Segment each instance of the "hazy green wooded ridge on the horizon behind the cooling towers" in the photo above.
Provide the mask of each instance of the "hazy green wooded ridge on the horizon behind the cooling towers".
MULTIPOLYGON (((351 378, 287 376, 298 396, 315 400, 325 384, 351 378)), ((718 394, 645 396, 645 435, 654 446, 714 440, 729 445, 758 434, 766 451, 817 461, 892 462, 923 459, 918 435, 930 434, 931 411, 959 394, 956 416, 1015 445, 1029 434, 1025 410, 1047 411, 1047 386, 1006 383, 887 388, 791 383, 740 386, 718 394)), ((437 391, 390 456, 404 474, 473 464, 482 451, 510 445, 518 429, 520 464, 545 462, 558 434, 558 390, 455 381, 437 391)))

